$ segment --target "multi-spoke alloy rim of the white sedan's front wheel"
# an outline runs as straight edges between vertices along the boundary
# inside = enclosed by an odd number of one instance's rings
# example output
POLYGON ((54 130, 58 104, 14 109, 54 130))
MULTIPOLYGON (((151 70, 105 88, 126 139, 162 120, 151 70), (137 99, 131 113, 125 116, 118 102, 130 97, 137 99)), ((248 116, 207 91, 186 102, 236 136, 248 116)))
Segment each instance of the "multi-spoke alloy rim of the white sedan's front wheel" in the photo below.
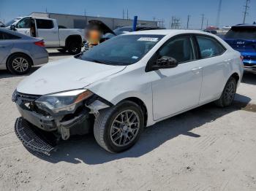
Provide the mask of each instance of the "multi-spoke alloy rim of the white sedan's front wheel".
POLYGON ((132 110, 125 110, 117 115, 111 125, 111 141, 118 147, 124 147, 135 139, 139 127, 140 118, 138 114, 132 110))

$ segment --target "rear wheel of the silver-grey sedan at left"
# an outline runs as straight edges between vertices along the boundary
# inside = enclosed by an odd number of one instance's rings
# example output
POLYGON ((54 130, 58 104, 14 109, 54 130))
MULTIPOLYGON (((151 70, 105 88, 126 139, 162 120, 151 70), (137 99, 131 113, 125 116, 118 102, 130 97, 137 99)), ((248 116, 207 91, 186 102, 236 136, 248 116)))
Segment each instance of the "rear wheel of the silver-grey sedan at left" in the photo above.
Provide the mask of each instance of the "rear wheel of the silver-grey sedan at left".
POLYGON ((32 66, 31 58, 23 54, 11 55, 7 60, 7 70, 12 74, 27 74, 32 66))

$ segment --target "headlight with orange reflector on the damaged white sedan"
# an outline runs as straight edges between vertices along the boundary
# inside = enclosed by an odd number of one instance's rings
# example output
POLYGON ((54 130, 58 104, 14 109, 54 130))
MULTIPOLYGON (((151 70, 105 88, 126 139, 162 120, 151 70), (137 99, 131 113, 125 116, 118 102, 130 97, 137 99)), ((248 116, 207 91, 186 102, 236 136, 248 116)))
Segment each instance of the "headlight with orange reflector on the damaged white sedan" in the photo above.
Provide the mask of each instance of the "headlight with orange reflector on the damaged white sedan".
POLYGON ((50 109, 53 113, 59 113, 61 111, 69 112, 75 109, 76 104, 91 97, 93 94, 89 90, 71 90, 42 95, 35 102, 39 109, 50 109))

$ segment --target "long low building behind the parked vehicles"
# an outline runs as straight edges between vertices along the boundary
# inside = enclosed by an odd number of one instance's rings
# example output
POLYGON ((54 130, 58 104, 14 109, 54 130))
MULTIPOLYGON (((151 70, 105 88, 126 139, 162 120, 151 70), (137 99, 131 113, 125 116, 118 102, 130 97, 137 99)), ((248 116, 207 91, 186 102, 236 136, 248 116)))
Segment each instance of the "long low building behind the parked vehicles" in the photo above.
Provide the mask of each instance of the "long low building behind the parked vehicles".
MULTIPOLYGON (((109 28, 116 29, 121 26, 132 26, 133 20, 110 17, 91 17, 83 15, 66 15, 50 12, 32 12, 34 17, 48 17, 58 20, 59 26, 66 28, 85 28, 89 20, 101 20, 109 28)), ((138 25, 157 26, 157 21, 138 20, 138 25)))

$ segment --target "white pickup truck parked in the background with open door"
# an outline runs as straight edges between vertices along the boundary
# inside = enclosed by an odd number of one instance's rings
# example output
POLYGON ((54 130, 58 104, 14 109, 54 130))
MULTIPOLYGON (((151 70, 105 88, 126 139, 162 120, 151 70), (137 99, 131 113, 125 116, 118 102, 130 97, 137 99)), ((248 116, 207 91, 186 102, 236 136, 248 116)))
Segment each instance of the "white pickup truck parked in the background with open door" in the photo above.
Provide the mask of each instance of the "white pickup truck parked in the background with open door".
POLYGON ((59 27, 56 19, 18 17, 9 22, 7 28, 21 34, 42 38, 45 41, 45 47, 61 48, 62 52, 67 50, 72 55, 81 51, 84 30, 59 27))

